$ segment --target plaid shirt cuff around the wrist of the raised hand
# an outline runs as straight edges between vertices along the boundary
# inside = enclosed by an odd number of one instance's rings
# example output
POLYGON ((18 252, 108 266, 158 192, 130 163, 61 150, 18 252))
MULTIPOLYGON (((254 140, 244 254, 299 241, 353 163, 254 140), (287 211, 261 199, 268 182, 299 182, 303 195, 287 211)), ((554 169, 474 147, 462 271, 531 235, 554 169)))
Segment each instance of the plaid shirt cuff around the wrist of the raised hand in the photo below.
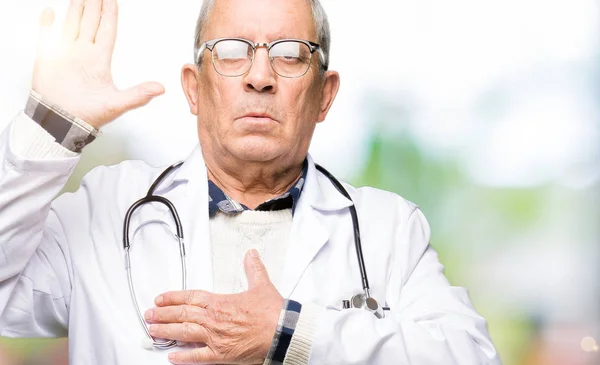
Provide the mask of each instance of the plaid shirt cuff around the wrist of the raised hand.
POLYGON ((56 143, 73 152, 81 152, 100 135, 98 129, 43 100, 34 90, 29 94, 24 112, 52 135, 56 143))

